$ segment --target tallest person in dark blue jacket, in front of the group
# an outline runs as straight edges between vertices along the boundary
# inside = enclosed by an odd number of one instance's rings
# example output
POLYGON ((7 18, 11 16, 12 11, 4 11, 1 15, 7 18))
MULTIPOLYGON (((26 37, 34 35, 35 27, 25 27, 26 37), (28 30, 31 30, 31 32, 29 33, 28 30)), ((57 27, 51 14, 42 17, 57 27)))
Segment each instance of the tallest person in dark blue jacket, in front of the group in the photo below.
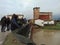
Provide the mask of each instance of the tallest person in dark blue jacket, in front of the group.
POLYGON ((16 14, 13 14, 11 19, 11 31, 14 31, 15 29, 18 28, 20 28, 18 24, 18 16, 16 14))

